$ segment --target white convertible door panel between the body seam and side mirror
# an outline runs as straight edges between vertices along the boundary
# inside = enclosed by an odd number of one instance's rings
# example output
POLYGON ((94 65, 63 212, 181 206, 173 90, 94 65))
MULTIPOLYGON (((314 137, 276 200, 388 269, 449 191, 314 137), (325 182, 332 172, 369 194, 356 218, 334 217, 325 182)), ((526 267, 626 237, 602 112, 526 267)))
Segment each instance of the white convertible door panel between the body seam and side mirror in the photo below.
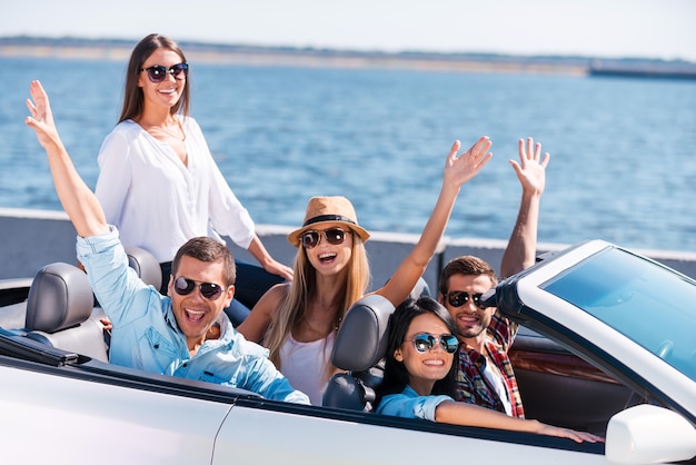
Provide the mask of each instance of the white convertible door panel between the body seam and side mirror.
POLYGON ((516 465, 606 464, 603 449, 534 434, 245 399, 225 419, 212 463, 404 465, 495 457, 516 465))

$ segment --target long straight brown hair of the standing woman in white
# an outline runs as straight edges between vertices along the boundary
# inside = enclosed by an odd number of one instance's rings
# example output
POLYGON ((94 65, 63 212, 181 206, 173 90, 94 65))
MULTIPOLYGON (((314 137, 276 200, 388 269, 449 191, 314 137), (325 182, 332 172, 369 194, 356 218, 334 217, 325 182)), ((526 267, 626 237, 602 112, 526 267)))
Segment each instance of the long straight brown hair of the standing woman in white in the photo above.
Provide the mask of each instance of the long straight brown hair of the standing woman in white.
MULTIPOLYGON (((151 33, 138 42, 133 51, 130 53, 130 61, 128 62, 128 70, 126 71, 123 108, 121 109, 119 122, 123 122, 127 119, 138 118, 142 115, 142 109, 145 108, 145 96, 142 93, 142 89, 138 87, 138 77, 140 76, 140 69, 142 68, 145 61, 157 49, 171 50, 181 57, 182 62, 186 62, 186 57, 183 56, 181 48, 179 48, 179 44, 165 36, 151 33)), ((189 88, 190 80, 187 78, 181 98, 170 109, 171 115, 179 111, 181 111, 181 115, 183 116, 189 115, 189 88)))

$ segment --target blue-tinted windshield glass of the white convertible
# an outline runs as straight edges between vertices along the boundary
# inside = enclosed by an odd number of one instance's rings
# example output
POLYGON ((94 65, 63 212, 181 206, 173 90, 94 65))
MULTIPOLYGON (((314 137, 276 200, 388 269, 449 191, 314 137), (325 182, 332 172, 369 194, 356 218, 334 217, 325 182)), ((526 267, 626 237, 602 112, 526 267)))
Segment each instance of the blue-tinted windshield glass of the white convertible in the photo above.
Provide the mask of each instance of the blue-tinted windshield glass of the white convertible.
POLYGON ((696 281, 609 247, 540 286, 696 380, 696 281))

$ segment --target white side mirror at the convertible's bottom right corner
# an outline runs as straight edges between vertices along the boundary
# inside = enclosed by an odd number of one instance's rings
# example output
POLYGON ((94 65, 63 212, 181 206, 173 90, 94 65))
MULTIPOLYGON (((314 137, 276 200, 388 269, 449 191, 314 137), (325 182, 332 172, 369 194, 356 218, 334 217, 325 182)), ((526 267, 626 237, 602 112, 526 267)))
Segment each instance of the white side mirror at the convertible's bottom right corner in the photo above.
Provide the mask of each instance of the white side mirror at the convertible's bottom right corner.
POLYGON ((605 455, 613 464, 657 464, 696 456, 696 428, 679 414, 642 404, 614 415, 605 455))

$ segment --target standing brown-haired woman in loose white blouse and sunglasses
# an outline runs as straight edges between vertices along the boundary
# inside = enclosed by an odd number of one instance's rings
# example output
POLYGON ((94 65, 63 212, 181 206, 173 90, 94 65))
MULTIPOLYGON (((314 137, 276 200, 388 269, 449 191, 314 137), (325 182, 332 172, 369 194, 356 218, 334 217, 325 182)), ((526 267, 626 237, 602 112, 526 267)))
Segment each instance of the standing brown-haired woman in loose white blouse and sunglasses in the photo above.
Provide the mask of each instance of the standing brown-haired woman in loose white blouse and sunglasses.
MULTIPOLYGON (((189 65, 173 40, 150 34, 136 46, 119 122, 99 152, 96 194, 122 243, 160 261, 165 293, 171 259, 188 239, 223 235, 247 248, 265 270, 237 261, 236 299, 251 308, 270 286, 291 280, 292 269, 268 254, 212 159, 189 116, 188 78, 189 65)), ((236 323, 248 313, 239 301, 236 323)))

